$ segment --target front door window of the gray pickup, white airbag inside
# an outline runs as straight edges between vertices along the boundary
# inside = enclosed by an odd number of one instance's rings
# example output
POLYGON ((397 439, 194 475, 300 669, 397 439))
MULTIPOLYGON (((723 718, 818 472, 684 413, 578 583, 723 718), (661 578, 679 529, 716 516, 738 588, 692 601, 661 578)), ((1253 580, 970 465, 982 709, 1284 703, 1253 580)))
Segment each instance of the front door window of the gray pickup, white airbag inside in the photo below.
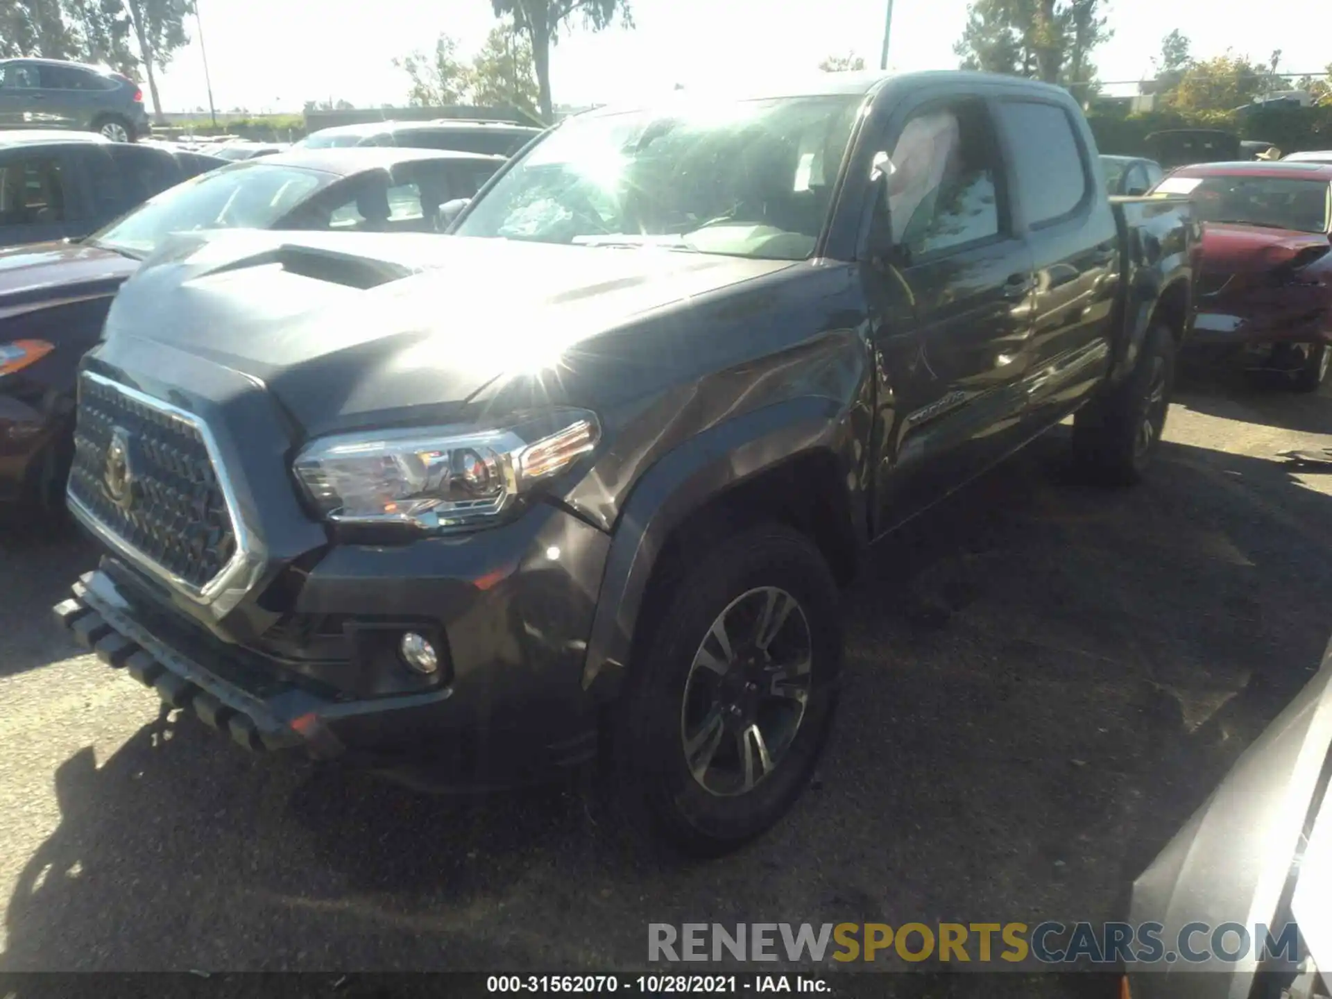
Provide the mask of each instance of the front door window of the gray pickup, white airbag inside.
POLYGON ((983 105, 914 116, 876 166, 886 174, 892 241, 912 257, 999 236, 1002 172, 983 105))

